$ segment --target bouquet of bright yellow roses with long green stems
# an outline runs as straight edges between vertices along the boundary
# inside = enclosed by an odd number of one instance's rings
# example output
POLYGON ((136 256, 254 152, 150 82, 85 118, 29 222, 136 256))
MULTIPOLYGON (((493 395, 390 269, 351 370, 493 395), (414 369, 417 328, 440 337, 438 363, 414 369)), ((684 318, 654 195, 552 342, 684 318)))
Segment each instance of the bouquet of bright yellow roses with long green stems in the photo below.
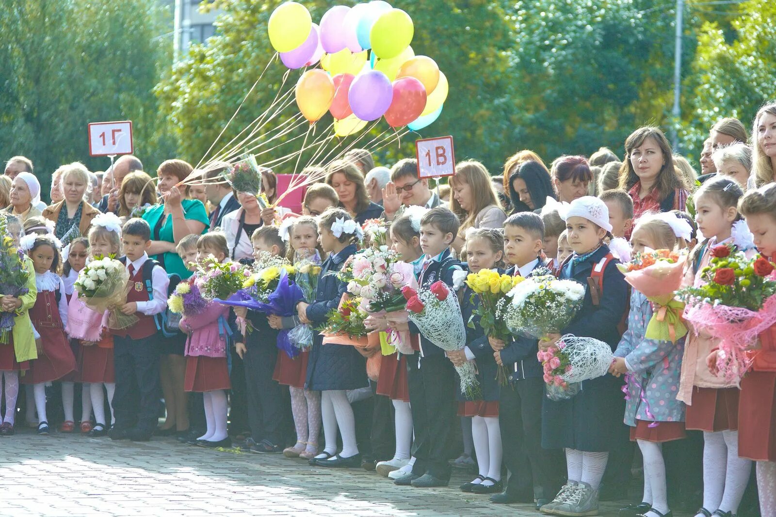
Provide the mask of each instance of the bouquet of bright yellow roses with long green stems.
MULTIPOLYGON (((515 285, 524 281, 524 277, 513 277, 508 274, 499 274, 498 271, 491 269, 481 269, 477 273, 470 273, 466 276, 466 285, 472 290, 472 298, 477 295, 480 298, 480 305, 473 310, 472 315, 480 316, 480 326, 486 336, 503 341, 509 341, 512 333, 504 322, 503 313, 497 310, 498 304, 503 305, 507 299, 507 293, 515 285)), ((474 322, 469 320, 469 328, 474 328, 474 322)), ((498 367, 497 381, 501 386, 507 385, 508 370, 506 367, 498 367)))

